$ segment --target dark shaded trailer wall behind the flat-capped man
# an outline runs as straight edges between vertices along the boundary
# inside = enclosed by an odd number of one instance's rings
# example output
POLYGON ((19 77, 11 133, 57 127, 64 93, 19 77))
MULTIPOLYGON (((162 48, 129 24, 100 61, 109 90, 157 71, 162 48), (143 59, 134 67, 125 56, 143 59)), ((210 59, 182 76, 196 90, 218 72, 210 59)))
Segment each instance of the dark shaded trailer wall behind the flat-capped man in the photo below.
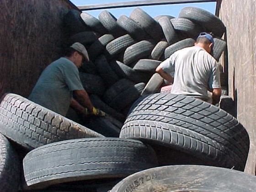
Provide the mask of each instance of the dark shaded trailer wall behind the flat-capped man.
POLYGON ((0 96, 28 96, 43 69, 62 52, 68 0, 0 0, 0 96))

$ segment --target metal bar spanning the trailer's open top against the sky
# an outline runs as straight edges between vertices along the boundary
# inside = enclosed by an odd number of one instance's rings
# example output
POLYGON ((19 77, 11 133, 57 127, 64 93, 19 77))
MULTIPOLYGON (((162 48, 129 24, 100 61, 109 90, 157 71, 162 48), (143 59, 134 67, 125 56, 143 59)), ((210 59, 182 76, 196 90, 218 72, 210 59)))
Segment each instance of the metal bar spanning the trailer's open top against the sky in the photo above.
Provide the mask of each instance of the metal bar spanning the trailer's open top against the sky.
POLYGON ((97 9, 112 9, 121 7, 134 7, 134 6, 147 6, 147 5, 168 5, 180 3, 203 3, 203 2, 216 2, 217 0, 138 0, 126 1, 118 3, 105 3, 96 5, 82 5, 77 6, 81 11, 97 10, 97 9))

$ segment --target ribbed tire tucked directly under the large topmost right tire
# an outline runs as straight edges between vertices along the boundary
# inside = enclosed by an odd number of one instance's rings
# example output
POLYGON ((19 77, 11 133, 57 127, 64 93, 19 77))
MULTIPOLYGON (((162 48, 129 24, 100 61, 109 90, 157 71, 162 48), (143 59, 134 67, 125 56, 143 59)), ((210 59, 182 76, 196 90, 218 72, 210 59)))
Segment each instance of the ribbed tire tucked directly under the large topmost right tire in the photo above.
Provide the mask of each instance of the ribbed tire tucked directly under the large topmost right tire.
POLYGON ((183 32, 187 34, 187 38, 196 39, 200 32, 205 31, 204 27, 185 18, 173 18, 171 23, 178 33, 183 32))

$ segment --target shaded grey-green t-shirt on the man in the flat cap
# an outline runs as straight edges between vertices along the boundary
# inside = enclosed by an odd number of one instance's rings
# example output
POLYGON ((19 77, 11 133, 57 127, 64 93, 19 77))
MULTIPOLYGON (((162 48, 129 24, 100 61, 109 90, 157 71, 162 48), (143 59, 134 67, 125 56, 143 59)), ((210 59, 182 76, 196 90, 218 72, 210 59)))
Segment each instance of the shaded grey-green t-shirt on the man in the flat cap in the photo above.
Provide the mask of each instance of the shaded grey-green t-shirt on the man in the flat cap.
POLYGON ((65 116, 72 91, 83 89, 77 67, 62 57, 44 69, 28 99, 65 116))

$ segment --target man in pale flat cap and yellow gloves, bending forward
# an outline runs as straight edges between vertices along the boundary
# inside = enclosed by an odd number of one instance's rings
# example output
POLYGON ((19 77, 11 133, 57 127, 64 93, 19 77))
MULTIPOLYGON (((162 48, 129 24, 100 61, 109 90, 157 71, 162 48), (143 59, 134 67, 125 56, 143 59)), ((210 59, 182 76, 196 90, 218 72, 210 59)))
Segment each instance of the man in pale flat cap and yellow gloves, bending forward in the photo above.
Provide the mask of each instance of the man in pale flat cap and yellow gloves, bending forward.
POLYGON ((80 81, 78 68, 89 61, 88 53, 81 43, 74 43, 65 56, 49 64, 40 75, 29 100, 66 116, 69 106, 82 115, 105 113, 93 107, 80 81))

